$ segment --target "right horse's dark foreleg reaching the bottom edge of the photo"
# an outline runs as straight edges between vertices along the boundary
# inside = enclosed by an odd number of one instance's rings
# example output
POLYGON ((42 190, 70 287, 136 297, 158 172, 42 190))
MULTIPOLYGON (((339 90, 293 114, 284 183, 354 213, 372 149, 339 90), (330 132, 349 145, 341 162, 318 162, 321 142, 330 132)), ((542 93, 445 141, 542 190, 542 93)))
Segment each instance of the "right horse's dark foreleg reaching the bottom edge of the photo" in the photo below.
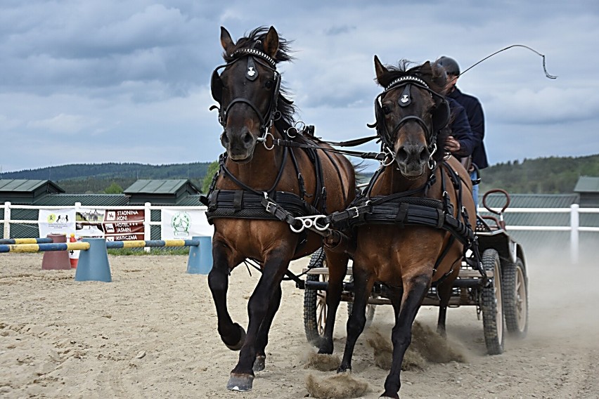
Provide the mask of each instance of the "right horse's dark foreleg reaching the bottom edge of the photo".
POLYGON ((416 313, 420 308, 424 296, 430 286, 430 275, 417 275, 409 280, 404 280, 404 296, 401 299, 401 310, 395 320, 395 326, 392 329, 391 341, 393 344, 393 361, 391 371, 385 379, 385 392, 381 398, 399 399, 399 380, 401 373, 401 363, 404 361, 406 350, 412 341, 412 324, 416 319, 416 313))

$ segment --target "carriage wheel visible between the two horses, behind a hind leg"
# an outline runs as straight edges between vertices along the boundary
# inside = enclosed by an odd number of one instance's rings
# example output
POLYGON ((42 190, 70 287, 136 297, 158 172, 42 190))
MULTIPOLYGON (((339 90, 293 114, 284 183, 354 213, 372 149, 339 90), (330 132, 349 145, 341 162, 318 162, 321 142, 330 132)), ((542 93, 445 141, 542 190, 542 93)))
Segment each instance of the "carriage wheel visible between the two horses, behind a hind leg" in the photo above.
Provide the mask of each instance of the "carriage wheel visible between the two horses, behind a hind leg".
MULTIPOLYGON (((318 251, 310 258, 308 268, 322 268, 326 266, 324 250, 318 251)), ((306 281, 328 281, 328 274, 306 275, 306 281)), ((319 346, 323 336, 327 317, 326 291, 318 289, 304 289, 304 330, 308 342, 319 346)))

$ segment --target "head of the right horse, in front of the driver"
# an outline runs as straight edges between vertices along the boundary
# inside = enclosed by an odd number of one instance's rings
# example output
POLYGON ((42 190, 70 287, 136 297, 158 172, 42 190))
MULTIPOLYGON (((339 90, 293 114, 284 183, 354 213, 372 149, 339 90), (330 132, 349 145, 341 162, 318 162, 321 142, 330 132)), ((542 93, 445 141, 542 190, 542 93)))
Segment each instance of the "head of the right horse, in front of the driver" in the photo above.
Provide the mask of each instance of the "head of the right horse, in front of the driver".
POLYGON ((444 70, 428 61, 409 70, 405 61, 385 67, 376 55, 374 62, 376 80, 385 88, 375 100, 383 150, 406 178, 423 176, 442 157, 437 133, 449 122, 444 70))

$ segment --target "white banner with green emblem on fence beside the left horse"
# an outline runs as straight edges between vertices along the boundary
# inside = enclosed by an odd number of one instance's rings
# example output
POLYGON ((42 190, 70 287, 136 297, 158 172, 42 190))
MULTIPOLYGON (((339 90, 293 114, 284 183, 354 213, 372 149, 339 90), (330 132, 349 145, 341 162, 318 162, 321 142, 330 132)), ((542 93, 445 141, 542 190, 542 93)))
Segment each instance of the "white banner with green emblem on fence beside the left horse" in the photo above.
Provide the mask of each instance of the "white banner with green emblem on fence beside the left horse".
POLYGON ((189 240, 195 236, 214 234, 208 223, 205 209, 162 209, 160 213, 160 236, 162 240, 189 240))

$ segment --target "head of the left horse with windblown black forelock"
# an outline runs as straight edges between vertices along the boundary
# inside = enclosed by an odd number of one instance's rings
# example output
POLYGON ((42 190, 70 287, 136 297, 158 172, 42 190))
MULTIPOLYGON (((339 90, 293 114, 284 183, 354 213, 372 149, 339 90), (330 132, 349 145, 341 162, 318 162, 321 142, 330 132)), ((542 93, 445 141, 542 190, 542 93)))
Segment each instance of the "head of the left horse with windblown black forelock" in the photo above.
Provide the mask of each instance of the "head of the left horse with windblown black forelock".
POLYGON ((250 162, 256 144, 266 140, 273 121, 281 117, 281 74, 276 64, 290 60, 286 44, 274 27, 257 28, 236 43, 221 27, 226 64, 212 73, 211 89, 220 105, 221 144, 234 162, 250 162))

